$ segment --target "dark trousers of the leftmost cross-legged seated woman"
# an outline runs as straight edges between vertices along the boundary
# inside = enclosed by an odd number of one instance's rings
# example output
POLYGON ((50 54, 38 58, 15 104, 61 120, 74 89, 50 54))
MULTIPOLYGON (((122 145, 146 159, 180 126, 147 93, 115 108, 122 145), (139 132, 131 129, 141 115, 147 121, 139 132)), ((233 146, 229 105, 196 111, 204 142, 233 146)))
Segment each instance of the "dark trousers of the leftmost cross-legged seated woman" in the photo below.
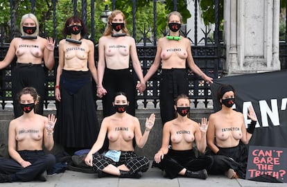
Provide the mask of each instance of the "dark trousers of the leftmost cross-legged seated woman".
POLYGON ((30 161, 31 166, 23 168, 14 159, 0 157, 0 172, 7 175, 15 175, 19 181, 33 181, 45 170, 49 170, 55 165, 55 156, 53 154, 45 154, 42 150, 22 150, 19 151, 19 154, 25 161, 30 161))

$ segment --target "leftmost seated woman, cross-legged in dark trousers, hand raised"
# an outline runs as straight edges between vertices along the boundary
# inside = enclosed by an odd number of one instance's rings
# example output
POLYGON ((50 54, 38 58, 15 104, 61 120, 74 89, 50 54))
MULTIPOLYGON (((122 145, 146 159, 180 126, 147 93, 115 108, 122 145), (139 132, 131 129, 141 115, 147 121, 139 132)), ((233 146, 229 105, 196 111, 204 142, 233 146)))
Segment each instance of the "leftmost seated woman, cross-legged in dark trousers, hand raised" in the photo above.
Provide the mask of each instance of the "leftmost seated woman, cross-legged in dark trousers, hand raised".
POLYGON ((0 182, 46 181, 42 175, 53 168, 55 157, 45 154, 42 145, 51 150, 54 145, 53 128, 57 118, 35 114, 39 96, 33 87, 19 93, 24 114, 10 122, 8 152, 12 159, 0 157, 0 182))

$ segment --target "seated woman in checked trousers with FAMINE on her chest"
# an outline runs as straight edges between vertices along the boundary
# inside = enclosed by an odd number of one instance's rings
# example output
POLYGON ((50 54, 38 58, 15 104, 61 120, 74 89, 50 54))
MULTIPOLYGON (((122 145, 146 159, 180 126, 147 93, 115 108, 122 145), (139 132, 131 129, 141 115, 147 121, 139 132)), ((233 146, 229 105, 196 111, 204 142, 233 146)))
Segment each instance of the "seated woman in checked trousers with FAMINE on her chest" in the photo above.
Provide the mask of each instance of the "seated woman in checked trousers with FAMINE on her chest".
POLYGON ((146 118, 146 130, 141 134, 139 120, 126 112, 129 102, 123 92, 116 93, 113 105, 116 113, 103 119, 98 139, 87 154, 85 163, 98 172, 98 177, 115 175, 121 178, 140 178, 139 172, 146 172, 150 161, 134 152, 132 139, 135 138, 137 146, 143 148, 155 124, 155 114, 146 118), (98 154, 106 135, 109 150, 103 155, 98 154))

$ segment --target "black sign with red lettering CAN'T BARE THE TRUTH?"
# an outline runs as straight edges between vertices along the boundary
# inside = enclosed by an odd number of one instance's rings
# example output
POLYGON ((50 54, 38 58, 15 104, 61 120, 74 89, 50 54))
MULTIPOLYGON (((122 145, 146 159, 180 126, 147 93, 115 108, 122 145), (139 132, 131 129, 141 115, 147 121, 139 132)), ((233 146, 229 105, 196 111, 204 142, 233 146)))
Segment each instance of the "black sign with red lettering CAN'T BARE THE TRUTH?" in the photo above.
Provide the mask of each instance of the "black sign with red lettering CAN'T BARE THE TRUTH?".
POLYGON ((250 145, 246 179, 261 175, 287 182, 287 148, 250 145))

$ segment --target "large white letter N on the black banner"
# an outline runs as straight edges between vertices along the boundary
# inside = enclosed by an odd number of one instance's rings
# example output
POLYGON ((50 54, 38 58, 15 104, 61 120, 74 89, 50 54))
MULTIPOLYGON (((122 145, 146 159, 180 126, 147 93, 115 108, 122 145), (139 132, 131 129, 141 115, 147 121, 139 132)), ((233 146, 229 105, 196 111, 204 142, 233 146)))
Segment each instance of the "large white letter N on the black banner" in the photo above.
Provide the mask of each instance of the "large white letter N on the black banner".
POLYGON ((272 121, 274 126, 280 125, 278 105, 277 105, 276 99, 271 100, 272 110, 268 107, 266 100, 260 100, 259 106, 260 106, 260 112, 261 112, 262 127, 268 127, 267 115, 270 117, 270 120, 272 121))

